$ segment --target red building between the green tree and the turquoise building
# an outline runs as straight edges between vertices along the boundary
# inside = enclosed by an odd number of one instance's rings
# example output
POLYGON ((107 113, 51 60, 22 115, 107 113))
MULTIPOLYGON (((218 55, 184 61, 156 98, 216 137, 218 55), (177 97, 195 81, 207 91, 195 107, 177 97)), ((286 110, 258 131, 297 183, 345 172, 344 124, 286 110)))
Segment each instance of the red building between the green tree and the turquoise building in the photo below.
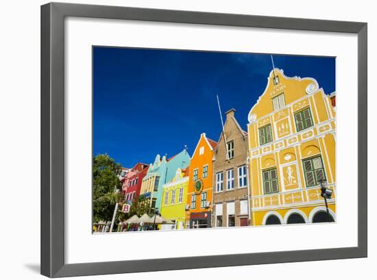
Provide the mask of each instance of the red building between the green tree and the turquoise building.
POLYGON ((131 203, 135 197, 140 195, 141 183, 143 182, 145 175, 147 175, 148 168, 148 164, 142 164, 139 162, 127 174, 129 176, 125 177, 122 182, 122 190, 126 202, 131 203))

